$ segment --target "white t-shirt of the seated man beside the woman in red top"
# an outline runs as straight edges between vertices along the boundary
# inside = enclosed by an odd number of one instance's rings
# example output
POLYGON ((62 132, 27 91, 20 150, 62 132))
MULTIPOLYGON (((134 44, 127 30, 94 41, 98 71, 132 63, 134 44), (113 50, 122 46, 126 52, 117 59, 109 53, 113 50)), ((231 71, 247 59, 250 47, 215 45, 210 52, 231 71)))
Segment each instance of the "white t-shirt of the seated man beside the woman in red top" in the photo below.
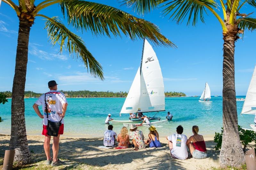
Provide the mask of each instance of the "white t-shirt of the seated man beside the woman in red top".
POLYGON ((185 160, 188 158, 188 151, 186 142, 188 140, 186 135, 172 134, 168 136, 168 140, 172 141, 172 155, 178 159, 185 160))

